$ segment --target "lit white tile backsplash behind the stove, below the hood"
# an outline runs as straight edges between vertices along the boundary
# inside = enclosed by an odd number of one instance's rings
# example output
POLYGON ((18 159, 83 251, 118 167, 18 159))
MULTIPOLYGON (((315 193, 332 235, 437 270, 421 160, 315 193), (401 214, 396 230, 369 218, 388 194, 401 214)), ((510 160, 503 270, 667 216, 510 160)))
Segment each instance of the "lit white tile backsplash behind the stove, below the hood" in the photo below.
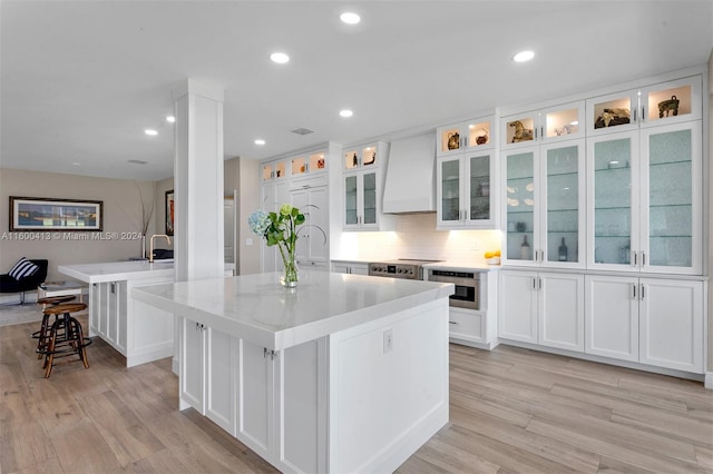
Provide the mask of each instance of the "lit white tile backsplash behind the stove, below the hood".
POLYGON ((436 230, 436 214, 398 215, 394 230, 342 233, 332 259, 416 258, 485 263, 484 254, 501 245, 500 230, 436 230))

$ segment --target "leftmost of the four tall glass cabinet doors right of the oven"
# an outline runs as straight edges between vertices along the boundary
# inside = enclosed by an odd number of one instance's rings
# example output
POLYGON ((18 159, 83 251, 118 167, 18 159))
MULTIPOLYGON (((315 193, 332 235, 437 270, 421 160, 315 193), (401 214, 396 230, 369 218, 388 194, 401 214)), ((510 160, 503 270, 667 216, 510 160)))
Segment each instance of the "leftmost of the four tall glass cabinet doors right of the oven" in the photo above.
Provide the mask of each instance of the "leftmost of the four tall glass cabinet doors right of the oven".
POLYGON ((538 254, 536 240, 538 149, 511 151, 505 156, 506 189, 505 220, 507 223, 505 259, 517 265, 535 265, 538 254))

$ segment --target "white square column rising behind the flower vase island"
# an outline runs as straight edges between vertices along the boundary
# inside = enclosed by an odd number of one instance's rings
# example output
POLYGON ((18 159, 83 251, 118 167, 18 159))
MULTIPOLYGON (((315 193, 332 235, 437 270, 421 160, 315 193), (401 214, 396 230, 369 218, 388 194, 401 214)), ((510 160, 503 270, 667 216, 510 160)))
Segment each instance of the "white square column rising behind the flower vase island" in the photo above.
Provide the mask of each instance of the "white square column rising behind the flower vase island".
POLYGON ((174 89, 176 282, 223 276, 222 88, 187 79, 174 89))

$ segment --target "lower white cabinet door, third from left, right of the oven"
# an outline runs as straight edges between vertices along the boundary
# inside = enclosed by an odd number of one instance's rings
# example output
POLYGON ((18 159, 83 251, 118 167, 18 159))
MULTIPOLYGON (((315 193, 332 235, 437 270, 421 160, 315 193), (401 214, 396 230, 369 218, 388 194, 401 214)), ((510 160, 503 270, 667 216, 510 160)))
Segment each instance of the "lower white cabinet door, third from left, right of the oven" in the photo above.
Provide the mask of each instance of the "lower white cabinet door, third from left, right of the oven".
POLYGON ((585 353, 638 362, 638 278, 585 277, 585 353))

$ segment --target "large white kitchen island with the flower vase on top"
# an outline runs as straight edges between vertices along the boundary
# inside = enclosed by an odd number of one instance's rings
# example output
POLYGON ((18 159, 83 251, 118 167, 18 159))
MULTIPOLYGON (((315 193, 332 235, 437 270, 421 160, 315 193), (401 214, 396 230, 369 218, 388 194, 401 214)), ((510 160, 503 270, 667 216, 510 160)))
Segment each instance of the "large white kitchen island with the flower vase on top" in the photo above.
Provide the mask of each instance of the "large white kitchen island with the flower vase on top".
POLYGON ((179 325, 179 403, 283 472, 392 472, 448 422, 450 284, 301 271, 136 288, 179 325))

